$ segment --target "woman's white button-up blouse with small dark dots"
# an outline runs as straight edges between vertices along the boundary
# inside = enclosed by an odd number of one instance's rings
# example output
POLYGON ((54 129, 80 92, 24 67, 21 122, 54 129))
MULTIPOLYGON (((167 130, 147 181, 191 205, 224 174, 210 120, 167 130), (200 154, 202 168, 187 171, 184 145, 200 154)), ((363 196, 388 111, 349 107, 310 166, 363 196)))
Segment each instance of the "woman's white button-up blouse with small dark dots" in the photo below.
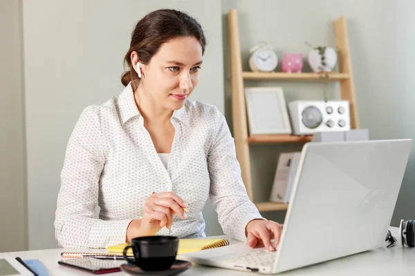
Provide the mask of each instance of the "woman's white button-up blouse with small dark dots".
POLYGON ((186 101, 171 121, 176 132, 165 168, 131 83, 119 97, 85 108, 61 173, 55 217, 59 246, 105 248, 125 242, 129 223, 142 217, 153 191, 175 193, 190 210, 185 220, 174 215, 171 233, 162 228, 157 235, 205 237, 202 210, 210 197, 225 235, 246 241, 246 224, 262 217, 246 194, 225 118, 214 106, 186 101))

